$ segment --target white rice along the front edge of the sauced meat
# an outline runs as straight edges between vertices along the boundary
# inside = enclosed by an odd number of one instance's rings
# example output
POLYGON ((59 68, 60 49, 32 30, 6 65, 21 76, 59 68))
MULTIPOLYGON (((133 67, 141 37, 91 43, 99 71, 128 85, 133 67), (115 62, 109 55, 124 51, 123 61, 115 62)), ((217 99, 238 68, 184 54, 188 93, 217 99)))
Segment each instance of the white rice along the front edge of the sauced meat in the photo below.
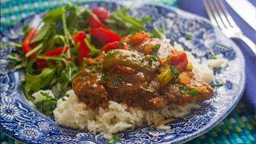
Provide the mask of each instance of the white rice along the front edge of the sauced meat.
POLYGON ((197 104, 169 105, 161 111, 154 111, 130 108, 126 104, 110 101, 106 110, 102 107, 91 110, 84 102, 78 100, 73 90, 67 91, 66 94, 67 97, 58 100, 54 110, 55 121, 64 126, 89 130, 93 134, 103 134, 105 138, 112 138, 114 133, 128 128, 134 129, 143 123, 168 130, 170 126, 165 126, 168 122, 166 119, 182 117, 192 108, 199 107, 197 104))

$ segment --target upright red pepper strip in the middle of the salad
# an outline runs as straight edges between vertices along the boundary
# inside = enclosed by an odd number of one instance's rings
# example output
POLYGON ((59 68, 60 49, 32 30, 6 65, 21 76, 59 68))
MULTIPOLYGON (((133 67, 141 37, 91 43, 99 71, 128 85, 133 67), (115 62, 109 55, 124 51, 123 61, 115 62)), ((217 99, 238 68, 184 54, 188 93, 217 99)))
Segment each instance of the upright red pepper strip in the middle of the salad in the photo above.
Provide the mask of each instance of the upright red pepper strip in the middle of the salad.
POLYGON ((78 54, 79 54, 79 64, 82 66, 83 58, 90 58, 90 50, 86 45, 86 33, 83 31, 78 31, 78 33, 73 35, 74 43, 78 44, 78 54))

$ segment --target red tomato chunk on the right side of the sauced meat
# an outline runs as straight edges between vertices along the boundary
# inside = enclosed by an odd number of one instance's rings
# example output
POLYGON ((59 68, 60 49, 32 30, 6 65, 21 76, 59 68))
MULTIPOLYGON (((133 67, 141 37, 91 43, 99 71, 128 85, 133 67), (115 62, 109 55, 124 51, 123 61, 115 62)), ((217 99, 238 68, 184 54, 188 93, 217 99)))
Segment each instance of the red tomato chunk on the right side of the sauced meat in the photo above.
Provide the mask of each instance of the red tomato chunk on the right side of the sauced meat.
POLYGON ((175 51, 170 55, 170 65, 180 71, 186 70, 188 59, 184 51, 175 51))

